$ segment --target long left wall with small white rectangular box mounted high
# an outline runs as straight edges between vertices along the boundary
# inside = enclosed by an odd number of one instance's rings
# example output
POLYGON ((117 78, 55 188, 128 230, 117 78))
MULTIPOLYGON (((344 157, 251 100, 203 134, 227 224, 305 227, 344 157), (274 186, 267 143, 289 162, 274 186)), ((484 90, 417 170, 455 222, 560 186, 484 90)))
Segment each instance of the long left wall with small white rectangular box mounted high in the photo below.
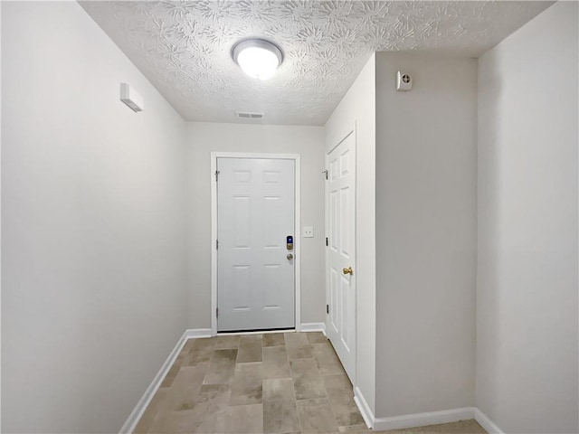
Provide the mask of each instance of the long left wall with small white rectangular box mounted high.
POLYGON ((186 326, 185 122, 77 3, 2 19, 2 430, 116 432, 186 326))

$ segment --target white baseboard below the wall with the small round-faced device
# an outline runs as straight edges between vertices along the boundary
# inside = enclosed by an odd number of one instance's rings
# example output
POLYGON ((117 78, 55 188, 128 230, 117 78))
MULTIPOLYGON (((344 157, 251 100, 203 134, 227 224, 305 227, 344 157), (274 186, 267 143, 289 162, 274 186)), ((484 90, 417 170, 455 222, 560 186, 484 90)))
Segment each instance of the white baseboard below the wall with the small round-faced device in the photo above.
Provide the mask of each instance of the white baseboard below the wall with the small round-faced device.
POLYGON ((464 409, 452 409, 442 411, 431 411, 428 413, 414 413, 393 418, 378 418, 374 420, 375 431, 385 431, 387 429, 403 429, 425 427, 426 425, 436 425, 439 423, 458 422, 459 420, 474 419, 475 409, 466 407, 464 409))

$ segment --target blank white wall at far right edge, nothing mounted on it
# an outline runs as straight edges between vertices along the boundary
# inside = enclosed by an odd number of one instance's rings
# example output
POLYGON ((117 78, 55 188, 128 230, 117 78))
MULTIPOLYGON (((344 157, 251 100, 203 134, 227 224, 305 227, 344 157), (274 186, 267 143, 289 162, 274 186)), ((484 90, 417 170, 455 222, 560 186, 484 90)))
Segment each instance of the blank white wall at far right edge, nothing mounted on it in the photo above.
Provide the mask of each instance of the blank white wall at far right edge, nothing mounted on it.
POLYGON ((477 407, 577 432, 577 3, 479 59, 477 407))

